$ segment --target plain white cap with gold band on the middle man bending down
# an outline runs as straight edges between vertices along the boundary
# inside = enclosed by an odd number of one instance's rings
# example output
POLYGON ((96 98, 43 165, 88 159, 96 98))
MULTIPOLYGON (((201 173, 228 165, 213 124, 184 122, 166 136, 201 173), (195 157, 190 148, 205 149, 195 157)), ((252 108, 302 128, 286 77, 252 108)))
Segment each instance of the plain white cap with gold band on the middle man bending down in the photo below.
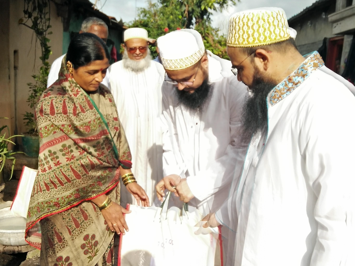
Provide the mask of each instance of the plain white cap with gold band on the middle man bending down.
POLYGON ((159 56, 165 70, 181 70, 195 65, 204 55, 201 34, 194 29, 179 29, 157 39, 159 56))

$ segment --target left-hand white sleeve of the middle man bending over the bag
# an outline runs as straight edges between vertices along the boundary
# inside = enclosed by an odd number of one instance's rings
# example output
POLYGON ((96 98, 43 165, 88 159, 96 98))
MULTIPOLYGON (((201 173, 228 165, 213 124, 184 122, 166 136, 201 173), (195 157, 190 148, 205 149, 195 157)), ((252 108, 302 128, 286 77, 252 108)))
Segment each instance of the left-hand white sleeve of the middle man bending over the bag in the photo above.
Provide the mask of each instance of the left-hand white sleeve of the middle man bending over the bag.
POLYGON ((179 151, 178 133, 174 123, 174 109, 172 98, 170 97, 173 89, 172 85, 163 82, 163 111, 161 116, 163 132, 163 172, 164 176, 177 174, 184 177, 187 167, 179 151))

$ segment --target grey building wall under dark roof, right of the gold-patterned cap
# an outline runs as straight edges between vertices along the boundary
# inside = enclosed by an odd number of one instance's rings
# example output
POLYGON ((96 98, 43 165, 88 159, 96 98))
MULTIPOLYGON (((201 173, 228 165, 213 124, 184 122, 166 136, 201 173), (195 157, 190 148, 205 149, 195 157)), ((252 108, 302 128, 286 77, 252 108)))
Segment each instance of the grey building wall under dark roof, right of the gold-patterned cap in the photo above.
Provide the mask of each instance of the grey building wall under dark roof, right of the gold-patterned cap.
POLYGON ((289 26, 297 31, 296 44, 302 55, 320 48, 325 37, 334 36, 332 34, 332 23, 328 22, 328 15, 333 13, 334 10, 335 1, 329 7, 315 7, 297 20, 289 22, 289 26))

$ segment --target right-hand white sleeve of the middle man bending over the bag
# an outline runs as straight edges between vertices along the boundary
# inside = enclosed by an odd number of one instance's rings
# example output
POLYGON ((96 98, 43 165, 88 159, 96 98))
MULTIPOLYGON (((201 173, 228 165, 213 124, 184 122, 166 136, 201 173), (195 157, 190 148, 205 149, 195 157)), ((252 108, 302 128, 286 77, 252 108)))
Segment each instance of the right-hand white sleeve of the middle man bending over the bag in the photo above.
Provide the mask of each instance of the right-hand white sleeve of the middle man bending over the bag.
MULTIPOLYGON (((207 169, 198 172, 196 176, 187 177, 187 184, 192 194, 203 201, 219 189, 231 185, 234 173, 239 177, 242 170, 247 144, 242 143, 241 112, 247 95, 247 87, 236 77, 224 79, 220 86, 226 86, 230 109, 230 143, 224 154, 217 158, 207 169)), ((228 195, 226 195, 227 197, 228 195)))

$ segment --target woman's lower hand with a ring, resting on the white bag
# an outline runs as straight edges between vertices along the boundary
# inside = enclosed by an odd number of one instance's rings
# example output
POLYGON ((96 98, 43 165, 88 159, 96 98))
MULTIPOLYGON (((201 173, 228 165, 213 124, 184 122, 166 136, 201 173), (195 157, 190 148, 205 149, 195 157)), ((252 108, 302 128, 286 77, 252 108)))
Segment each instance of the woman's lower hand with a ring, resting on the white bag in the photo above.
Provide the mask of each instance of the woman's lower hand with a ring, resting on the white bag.
POLYGON ((110 207, 101 211, 110 230, 112 232, 116 231, 118 234, 125 234, 125 230, 128 232, 128 226, 123 214, 129 214, 130 212, 115 202, 112 202, 110 207))

